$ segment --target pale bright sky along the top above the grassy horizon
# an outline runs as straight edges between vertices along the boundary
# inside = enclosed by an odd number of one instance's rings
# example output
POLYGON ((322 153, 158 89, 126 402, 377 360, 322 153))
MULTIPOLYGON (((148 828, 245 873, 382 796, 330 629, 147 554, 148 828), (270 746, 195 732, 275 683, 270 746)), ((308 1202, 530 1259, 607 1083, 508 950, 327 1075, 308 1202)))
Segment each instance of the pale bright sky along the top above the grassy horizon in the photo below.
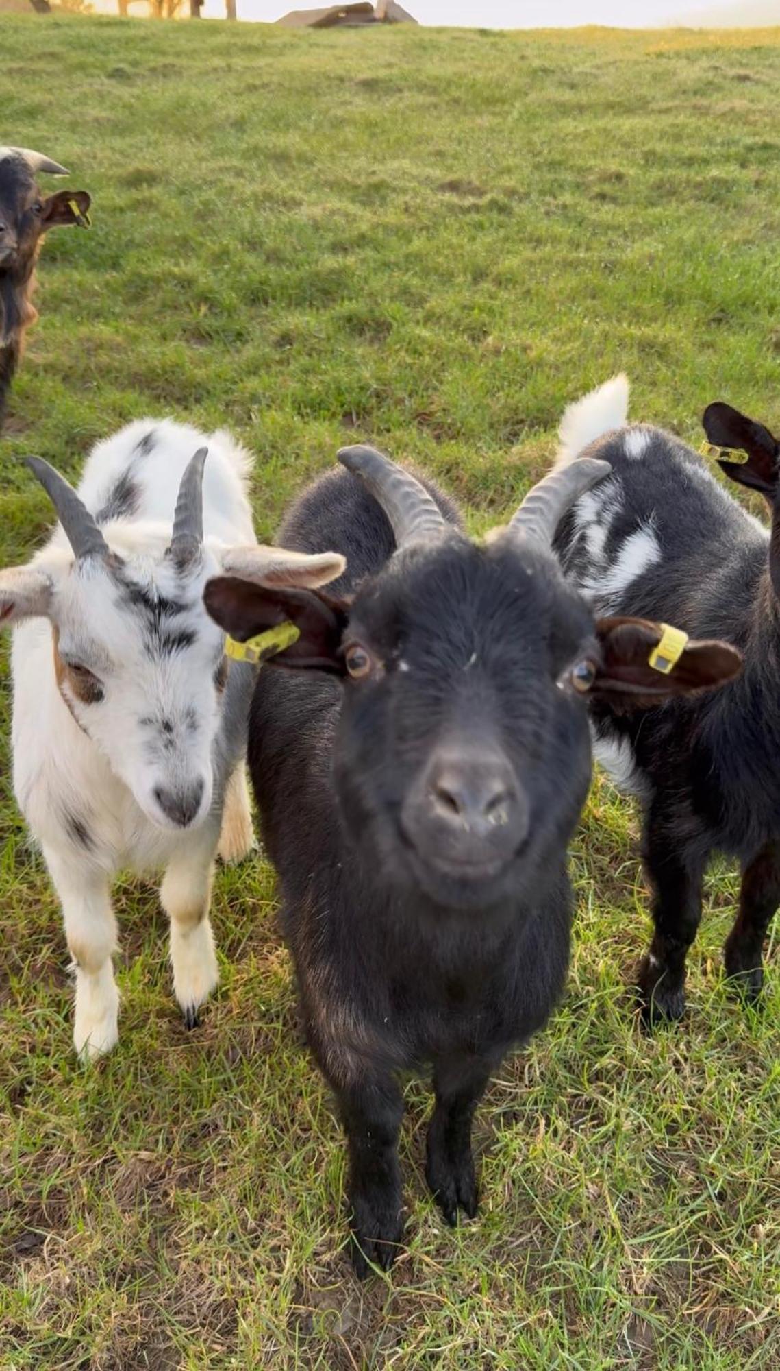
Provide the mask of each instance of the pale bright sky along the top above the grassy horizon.
MULTIPOLYGON (((311 10, 328 0, 237 0, 239 19, 272 22, 289 10, 311 10)), ((404 4, 404 0, 401 0, 404 4)), ((653 27, 671 15, 705 8, 706 0, 406 0, 420 23, 484 29, 558 29, 601 23, 653 27)), ((204 15, 223 18, 223 0, 205 0, 204 15)))

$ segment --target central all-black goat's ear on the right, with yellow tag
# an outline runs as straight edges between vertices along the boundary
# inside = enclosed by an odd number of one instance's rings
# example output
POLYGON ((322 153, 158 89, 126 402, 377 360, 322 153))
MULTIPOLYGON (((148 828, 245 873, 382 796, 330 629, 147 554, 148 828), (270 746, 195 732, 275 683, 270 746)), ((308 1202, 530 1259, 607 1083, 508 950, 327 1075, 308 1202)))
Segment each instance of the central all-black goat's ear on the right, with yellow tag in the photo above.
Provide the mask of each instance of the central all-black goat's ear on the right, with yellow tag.
POLYGON ((742 653, 728 643, 688 639, 668 673, 650 665, 664 635, 661 624, 645 618, 599 618, 595 631, 602 662, 590 688, 616 713, 651 709, 673 695, 714 690, 739 676, 742 653))

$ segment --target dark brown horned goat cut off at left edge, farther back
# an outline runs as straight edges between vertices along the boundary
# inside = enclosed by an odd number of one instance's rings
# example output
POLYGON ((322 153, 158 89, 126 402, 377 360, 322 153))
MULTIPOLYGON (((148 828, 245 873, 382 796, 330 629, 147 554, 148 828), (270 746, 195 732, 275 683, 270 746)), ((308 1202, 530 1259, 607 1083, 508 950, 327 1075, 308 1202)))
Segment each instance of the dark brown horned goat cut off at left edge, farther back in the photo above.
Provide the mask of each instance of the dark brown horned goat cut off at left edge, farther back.
POLYGON ((0 147, 0 428, 25 332, 37 319, 31 295, 44 233, 62 223, 85 225, 86 191, 41 196, 36 175, 68 175, 41 152, 0 147))

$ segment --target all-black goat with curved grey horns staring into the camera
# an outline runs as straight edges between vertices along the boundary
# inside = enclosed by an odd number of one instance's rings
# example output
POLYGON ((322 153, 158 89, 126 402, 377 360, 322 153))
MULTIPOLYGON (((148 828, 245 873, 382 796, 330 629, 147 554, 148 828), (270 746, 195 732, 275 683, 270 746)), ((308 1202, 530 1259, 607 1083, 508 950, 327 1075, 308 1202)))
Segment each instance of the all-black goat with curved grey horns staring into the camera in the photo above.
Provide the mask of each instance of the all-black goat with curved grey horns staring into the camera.
POLYGON ((584 696, 666 695, 736 654, 692 644, 665 677, 655 625, 595 624, 550 551, 569 502, 608 474, 547 478, 486 546, 453 505, 368 447, 283 524, 334 547, 335 594, 218 577, 205 603, 246 639, 298 642, 264 669, 249 765, 283 893, 308 1038, 350 1156, 353 1259, 389 1267, 402 1235, 394 1072, 432 1063, 427 1179, 449 1223, 476 1213, 471 1121, 491 1071, 561 993, 567 843, 590 780, 584 696), (330 673, 330 675, 326 675, 330 673))

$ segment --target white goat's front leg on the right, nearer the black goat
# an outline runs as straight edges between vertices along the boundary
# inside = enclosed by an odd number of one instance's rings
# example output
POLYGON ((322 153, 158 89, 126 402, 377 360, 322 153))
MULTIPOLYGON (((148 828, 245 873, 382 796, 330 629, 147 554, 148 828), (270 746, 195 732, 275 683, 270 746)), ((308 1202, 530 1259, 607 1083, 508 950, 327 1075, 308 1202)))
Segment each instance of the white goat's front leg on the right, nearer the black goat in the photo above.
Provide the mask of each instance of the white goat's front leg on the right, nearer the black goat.
POLYGON ((208 917, 216 840, 211 825, 207 832, 193 835, 192 847, 177 853, 168 864, 160 890, 171 920, 174 993, 187 1028, 197 1027, 198 1008, 219 980, 208 917))

